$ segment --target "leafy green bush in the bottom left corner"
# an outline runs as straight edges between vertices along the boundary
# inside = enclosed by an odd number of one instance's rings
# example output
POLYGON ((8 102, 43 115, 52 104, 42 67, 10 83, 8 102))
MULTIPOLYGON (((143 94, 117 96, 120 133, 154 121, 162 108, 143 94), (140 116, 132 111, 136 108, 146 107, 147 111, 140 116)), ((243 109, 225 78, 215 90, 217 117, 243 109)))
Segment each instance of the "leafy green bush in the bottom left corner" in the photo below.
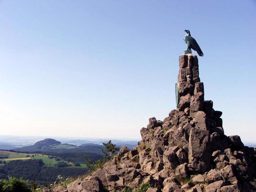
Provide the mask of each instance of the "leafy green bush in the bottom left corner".
POLYGON ((1 192, 33 192, 32 188, 28 185, 28 180, 22 178, 17 179, 10 177, 9 180, 0 180, 0 191, 1 192))

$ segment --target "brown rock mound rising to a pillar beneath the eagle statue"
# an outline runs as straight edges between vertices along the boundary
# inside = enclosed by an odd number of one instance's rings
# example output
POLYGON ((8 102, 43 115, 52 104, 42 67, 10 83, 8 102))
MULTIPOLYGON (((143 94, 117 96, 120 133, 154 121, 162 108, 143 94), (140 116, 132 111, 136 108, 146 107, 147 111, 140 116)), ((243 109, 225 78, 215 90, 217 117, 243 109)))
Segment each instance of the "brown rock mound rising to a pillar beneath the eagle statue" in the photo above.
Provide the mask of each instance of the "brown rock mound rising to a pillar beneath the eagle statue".
POLYGON ((224 134, 222 112, 204 100, 197 56, 179 57, 176 88, 177 109, 150 118, 133 150, 123 146, 93 174, 53 191, 136 191, 141 183, 152 184, 147 192, 256 191, 255 151, 224 134))

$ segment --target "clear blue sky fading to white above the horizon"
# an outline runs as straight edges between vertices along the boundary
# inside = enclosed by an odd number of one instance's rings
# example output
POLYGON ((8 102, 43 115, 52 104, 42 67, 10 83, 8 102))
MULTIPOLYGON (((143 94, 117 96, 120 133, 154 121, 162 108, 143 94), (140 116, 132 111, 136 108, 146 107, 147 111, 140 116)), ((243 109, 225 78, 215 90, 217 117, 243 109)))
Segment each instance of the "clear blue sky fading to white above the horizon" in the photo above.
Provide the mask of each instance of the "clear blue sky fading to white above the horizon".
POLYGON ((255 18, 253 0, 0 1, 1 134, 140 138, 176 109, 188 29, 225 134, 255 141, 255 18))

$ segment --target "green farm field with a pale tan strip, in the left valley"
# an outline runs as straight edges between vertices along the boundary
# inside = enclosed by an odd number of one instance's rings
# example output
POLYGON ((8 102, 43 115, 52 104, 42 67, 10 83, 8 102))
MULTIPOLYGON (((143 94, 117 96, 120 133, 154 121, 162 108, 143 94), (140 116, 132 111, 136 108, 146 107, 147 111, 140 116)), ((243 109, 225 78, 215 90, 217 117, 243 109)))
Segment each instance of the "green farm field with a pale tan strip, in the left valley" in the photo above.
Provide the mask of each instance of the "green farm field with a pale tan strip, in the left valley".
MULTIPOLYGON (((2 158, 0 159, 1 161, 6 161, 6 163, 8 163, 8 161, 13 161, 13 160, 27 160, 27 159, 42 159, 43 162, 46 164, 46 166, 54 166, 54 164, 58 163, 58 162, 65 162, 65 163, 69 163, 68 161, 55 161, 55 158, 48 158, 47 155, 42 155, 42 154, 26 154, 26 153, 13 153, 13 152, 8 152, 8 151, 0 151, 0 156, 1 155, 8 155, 9 158, 2 158), (27 157, 27 155, 29 155, 29 157, 27 157), (34 157, 32 157, 32 155, 34 155, 34 157)), ((72 164, 72 163, 69 163, 72 164)), ((0 166, 3 166, 5 164, 0 164, 0 166)), ((72 164, 73 165, 73 164, 72 164)), ((81 164, 81 166, 70 166, 70 167, 80 167, 80 168, 86 168, 85 164, 81 164)))

